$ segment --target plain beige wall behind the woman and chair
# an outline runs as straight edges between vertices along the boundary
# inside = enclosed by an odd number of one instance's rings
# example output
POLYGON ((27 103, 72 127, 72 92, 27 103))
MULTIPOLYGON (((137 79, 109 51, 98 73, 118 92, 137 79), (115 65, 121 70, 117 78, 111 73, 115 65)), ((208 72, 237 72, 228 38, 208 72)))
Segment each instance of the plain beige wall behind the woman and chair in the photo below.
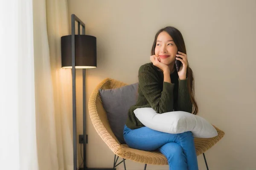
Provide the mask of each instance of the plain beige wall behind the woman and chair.
MULTIPOLYGON (((154 34, 175 26, 186 42, 195 74, 199 115, 226 135, 206 152, 211 170, 256 170, 256 1, 255 0, 69 0, 69 14, 97 37, 96 69, 87 70, 87 102, 93 88, 111 77, 137 82, 149 62, 154 34)), ((81 84, 81 72, 78 74, 81 84)), ((81 94, 81 86, 79 87, 81 94)), ((81 97, 78 96, 78 98, 81 97)), ((79 102, 80 100, 80 102, 79 102)), ((78 130, 82 133, 81 99, 78 130)), ((87 166, 113 166, 113 153, 87 115, 87 166)), ((80 147, 80 146, 79 146, 80 147)), ((80 157, 80 156, 79 156, 80 157)), ((203 156, 198 156, 205 170, 203 156)), ((129 170, 143 164, 127 161, 129 170)), ((119 166, 122 170, 123 166, 119 166)), ((167 170, 149 165, 148 170, 167 170)))

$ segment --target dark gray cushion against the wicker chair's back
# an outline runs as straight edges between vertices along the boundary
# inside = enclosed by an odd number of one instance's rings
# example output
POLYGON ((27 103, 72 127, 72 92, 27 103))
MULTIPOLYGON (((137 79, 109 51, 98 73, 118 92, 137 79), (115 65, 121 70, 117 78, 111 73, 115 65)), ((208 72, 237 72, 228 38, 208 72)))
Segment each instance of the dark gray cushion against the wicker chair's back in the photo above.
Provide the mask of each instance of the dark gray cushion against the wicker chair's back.
POLYGON ((107 113, 108 122, 121 144, 125 143, 123 129, 128 116, 128 110, 137 101, 138 83, 121 88, 99 89, 103 107, 107 113))

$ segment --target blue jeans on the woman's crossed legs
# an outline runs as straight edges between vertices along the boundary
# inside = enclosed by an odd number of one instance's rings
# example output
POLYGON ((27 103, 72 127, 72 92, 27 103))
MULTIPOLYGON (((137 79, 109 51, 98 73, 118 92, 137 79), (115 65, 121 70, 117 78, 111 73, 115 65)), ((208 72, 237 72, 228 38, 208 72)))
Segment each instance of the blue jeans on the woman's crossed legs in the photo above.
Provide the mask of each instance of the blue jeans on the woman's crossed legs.
POLYGON ((126 144, 139 150, 159 150, 166 156, 169 170, 198 170, 195 143, 192 132, 171 134, 140 127, 131 130, 124 127, 126 144))

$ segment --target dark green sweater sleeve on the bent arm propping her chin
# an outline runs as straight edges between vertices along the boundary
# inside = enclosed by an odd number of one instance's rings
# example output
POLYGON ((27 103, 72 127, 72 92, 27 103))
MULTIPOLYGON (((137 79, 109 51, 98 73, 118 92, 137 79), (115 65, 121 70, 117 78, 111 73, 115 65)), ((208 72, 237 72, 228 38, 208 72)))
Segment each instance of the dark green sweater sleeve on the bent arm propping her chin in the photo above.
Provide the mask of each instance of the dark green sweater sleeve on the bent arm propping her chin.
POLYGON ((157 113, 173 111, 174 84, 163 82, 163 90, 157 72, 150 65, 142 65, 139 69, 139 87, 157 113))

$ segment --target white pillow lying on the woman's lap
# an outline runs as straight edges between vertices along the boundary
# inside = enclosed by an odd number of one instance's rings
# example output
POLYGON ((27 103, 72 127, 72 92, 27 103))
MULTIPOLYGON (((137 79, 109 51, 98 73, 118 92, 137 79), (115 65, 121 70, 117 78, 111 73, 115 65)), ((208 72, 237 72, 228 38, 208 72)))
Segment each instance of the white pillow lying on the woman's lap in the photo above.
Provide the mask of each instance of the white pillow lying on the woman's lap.
POLYGON ((172 111, 156 113, 152 108, 137 108, 135 116, 143 125, 153 130, 165 133, 183 133, 191 131, 194 137, 212 138, 217 136, 217 130, 204 118, 184 112, 172 111))

